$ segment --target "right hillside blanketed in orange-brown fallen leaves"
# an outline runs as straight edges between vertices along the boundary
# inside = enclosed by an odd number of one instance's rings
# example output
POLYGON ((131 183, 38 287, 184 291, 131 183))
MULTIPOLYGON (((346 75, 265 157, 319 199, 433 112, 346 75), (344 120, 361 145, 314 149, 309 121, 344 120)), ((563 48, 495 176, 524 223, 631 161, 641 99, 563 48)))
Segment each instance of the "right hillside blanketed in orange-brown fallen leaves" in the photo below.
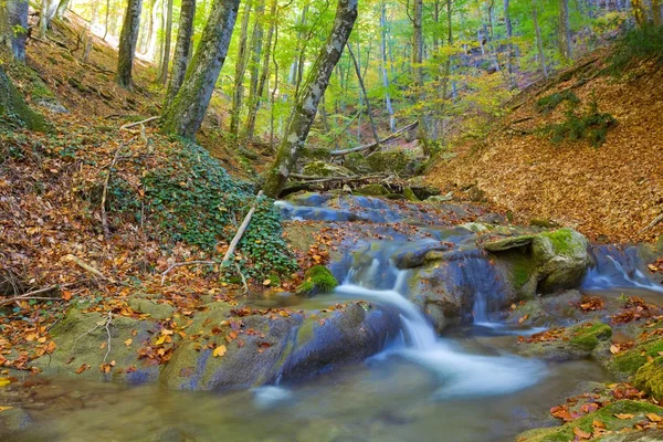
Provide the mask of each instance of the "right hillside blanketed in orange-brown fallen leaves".
POLYGON ((547 219, 599 241, 655 240, 663 223, 642 230, 663 212, 663 70, 638 66, 617 80, 597 75, 603 64, 599 57, 570 80, 560 75, 566 81, 524 93, 481 146, 459 146, 455 158, 435 165, 430 182, 456 197, 476 185, 520 222, 547 219), (599 148, 532 134, 561 120, 567 108, 545 115, 536 101, 573 85, 580 108, 593 95, 599 110, 618 120, 599 148))

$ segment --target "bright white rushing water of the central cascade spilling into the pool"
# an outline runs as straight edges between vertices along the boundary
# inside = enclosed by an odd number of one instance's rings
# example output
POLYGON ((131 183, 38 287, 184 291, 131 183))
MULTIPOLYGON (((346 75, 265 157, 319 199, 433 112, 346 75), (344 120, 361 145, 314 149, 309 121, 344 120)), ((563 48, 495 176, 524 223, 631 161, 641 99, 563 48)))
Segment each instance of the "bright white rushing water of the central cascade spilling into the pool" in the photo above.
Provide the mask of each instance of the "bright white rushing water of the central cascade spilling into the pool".
MULTIPOLYGON (((378 260, 373 260, 370 271, 364 272, 364 275, 378 274, 377 270, 373 271, 376 263, 379 265, 378 260)), ((393 267, 392 270, 397 271, 393 267)), ((539 360, 513 355, 472 355, 453 341, 438 338, 420 309, 404 296, 407 271, 397 272, 392 290, 375 290, 366 286, 369 283, 365 278, 356 281, 360 272, 354 269, 344 284, 336 288, 336 293, 373 299, 391 305, 400 312, 403 332, 407 335, 406 345, 386 350, 378 358, 401 357, 435 373, 441 386, 433 397, 504 394, 534 386, 546 376, 546 366, 539 360)), ((483 299, 483 296, 478 298, 483 299)))

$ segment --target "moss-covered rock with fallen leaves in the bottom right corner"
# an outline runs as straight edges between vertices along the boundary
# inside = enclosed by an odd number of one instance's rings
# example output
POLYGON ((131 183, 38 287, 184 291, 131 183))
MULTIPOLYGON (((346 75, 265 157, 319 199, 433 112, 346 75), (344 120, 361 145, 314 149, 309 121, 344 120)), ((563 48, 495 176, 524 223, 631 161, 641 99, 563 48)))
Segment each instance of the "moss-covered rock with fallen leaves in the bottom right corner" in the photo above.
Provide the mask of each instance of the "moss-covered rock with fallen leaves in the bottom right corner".
MULTIPOLYGON (((568 442, 576 440, 576 435, 573 434, 573 429, 578 428, 587 433, 593 432, 593 424, 596 421, 601 422, 606 425, 606 430, 608 431, 620 431, 622 429, 631 429, 633 425, 641 421, 646 421, 646 414, 663 414, 663 408, 657 407, 653 403, 634 401, 634 400, 619 400, 608 406, 592 412, 582 415, 576 420, 565 423, 559 427, 550 427, 543 429, 534 429, 525 431, 516 436, 517 442, 568 442), (628 419, 619 419, 615 414, 620 414, 622 418, 624 415, 632 414, 632 418, 628 419)), ((648 433, 640 433, 636 436, 646 438, 648 433)), ((604 440, 604 439, 601 439, 604 440)), ((625 441, 624 439, 619 439, 620 441, 625 441)), ((628 439, 630 441, 646 439, 628 439)), ((650 439, 652 441, 657 439, 650 439)))

